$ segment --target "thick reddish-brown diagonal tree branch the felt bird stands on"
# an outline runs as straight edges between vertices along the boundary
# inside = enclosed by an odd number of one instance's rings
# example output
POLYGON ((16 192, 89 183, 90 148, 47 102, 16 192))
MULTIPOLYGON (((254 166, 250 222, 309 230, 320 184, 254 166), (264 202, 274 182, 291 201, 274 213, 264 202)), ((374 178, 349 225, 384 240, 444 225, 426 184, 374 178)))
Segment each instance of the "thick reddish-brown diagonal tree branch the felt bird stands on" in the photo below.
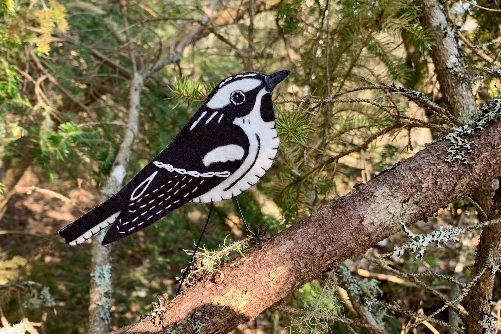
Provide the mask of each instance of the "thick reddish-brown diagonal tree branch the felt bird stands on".
POLYGON ((447 139, 381 173, 226 263, 160 313, 119 333, 226 333, 306 282, 501 175, 501 122, 469 137, 469 164, 445 161, 447 139))

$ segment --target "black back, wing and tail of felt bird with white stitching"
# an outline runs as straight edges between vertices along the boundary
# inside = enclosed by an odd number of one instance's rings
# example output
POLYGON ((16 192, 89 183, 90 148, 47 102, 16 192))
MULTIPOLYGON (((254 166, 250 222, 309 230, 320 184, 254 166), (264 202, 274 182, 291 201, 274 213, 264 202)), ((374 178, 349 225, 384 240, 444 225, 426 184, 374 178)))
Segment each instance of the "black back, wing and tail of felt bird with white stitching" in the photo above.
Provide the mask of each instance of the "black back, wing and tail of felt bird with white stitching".
POLYGON ((66 243, 82 243, 110 224, 103 245, 129 236, 217 186, 247 157, 249 141, 240 127, 214 122, 191 130, 189 125, 120 192, 61 229, 66 243), (241 147, 241 159, 206 166, 207 153, 225 145, 241 147))

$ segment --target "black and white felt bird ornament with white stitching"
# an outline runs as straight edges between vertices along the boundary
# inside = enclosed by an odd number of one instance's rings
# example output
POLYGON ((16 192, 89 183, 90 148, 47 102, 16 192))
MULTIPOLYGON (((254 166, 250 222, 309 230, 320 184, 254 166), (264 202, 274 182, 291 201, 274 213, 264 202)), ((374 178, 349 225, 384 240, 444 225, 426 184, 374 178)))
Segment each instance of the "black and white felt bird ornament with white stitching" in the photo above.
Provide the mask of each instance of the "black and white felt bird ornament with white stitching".
POLYGON ((59 231, 69 245, 112 225, 102 244, 125 238, 187 203, 240 195, 272 166, 279 138, 271 92, 291 71, 221 81, 188 124, 109 200, 59 231))

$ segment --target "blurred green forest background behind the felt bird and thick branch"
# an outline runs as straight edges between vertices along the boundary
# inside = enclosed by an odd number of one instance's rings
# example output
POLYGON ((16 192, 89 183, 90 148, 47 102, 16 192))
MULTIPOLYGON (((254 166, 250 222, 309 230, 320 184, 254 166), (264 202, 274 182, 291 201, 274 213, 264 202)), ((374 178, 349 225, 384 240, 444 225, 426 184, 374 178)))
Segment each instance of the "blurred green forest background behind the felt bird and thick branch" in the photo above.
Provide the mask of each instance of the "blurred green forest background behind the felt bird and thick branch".
MULTIPOLYGON (((57 231, 119 189, 122 180, 109 179, 118 165, 124 181, 134 176, 223 78, 292 70, 273 94, 277 160, 239 197, 269 237, 471 120, 499 94, 500 25, 498 0, 0 0, 0 332, 100 332, 89 291, 109 269, 111 299, 97 307, 104 328, 151 313, 157 294, 175 295, 208 207, 185 206, 112 244, 109 264, 106 251, 91 262, 90 242, 69 247, 57 231), (425 9, 438 5, 454 59, 428 25, 438 19, 425 9), (441 80, 458 69, 463 81, 452 86, 463 92, 447 91, 441 80), (458 109, 449 94, 469 97, 458 109)), ((459 199, 409 229, 497 218, 480 206, 474 195, 459 199)), ((488 232, 378 261, 409 241, 402 231, 233 332, 464 332, 479 309, 468 291, 482 280, 475 254, 489 247, 488 232)), ((205 249, 245 238, 234 201, 217 203, 205 249)), ((497 260, 488 311, 468 332, 499 330, 497 260)))

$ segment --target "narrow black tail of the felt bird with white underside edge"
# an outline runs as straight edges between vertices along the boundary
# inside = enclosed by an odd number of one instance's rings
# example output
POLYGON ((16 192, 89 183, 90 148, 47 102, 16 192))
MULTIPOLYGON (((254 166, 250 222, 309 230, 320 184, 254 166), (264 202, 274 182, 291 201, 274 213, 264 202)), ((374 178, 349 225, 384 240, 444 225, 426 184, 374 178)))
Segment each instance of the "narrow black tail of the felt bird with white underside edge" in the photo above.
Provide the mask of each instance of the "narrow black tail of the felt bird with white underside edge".
MULTIPOLYGON (((116 199, 115 199, 116 200, 116 199)), ((82 217, 59 230, 59 235, 65 238, 68 245, 83 243, 108 225, 120 215, 121 209, 116 206, 113 197, 101 203, 82 217)))

